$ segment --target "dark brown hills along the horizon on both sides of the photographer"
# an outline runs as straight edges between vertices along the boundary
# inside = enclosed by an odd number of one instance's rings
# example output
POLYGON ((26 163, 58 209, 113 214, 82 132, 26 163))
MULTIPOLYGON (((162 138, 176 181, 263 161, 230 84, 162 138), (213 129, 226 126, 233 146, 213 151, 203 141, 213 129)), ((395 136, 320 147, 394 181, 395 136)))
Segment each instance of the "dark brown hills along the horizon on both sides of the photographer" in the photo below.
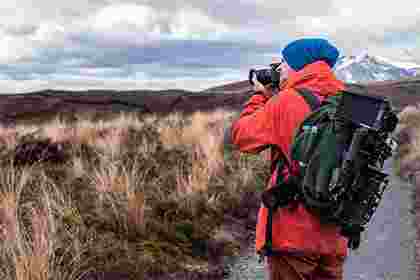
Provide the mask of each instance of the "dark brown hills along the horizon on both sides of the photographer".
MULTIPOLYGON (((420 77, 400 81, 348 84, 348 88, 372 95, 388 96, 401 110, 420 103, 420 77)), ((108 114, 131 111, 163 113, 173 111, 208 111, 215 108, 240 109, 252 94, 247 81, 221 85, 201 92, 165 91, 57 91, 45 90, 27 94, 0 95, 0 122, 49 118, 57 113, 76 118, 82 112, 108 114)))

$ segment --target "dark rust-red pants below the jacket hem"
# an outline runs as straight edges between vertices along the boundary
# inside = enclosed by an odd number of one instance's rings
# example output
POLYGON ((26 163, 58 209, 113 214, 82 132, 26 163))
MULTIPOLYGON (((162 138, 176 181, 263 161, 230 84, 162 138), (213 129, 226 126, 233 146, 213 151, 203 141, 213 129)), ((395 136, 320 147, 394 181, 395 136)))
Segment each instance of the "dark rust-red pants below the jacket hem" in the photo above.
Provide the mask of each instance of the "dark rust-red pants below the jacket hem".
POLYGON ((269 280, 342 280, 345 257, 273 256, 267 258, 269 280))

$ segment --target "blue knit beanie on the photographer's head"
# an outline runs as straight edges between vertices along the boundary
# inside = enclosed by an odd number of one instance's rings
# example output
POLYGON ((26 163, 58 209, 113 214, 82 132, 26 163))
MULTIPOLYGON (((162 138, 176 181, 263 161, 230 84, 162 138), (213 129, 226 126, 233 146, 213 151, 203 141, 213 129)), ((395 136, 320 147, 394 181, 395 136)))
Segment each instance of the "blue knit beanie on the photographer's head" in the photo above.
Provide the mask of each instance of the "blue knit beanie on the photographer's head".
POLYGON ((339 52, 336 47, 325 39, 299 39, 289 43, 282 51, 287 64, 295 70, 301 70, 305 65, 322 60, 333 68, 339 52))

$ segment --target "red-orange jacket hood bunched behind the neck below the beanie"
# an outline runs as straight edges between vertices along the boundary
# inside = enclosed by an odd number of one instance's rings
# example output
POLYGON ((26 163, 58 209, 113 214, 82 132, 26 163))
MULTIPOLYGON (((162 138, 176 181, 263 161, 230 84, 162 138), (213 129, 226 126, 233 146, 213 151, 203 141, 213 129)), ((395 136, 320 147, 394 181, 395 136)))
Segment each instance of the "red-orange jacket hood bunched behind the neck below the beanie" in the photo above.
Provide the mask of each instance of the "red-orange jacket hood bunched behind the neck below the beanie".
POLYGON ((284 89, 287 88, 305 88, 320 96, 328 97, 344 90, 345 85, 335 77, 327 63, 317 61, 306 65, 300 71, 291 71, 284 86, 284 89))

